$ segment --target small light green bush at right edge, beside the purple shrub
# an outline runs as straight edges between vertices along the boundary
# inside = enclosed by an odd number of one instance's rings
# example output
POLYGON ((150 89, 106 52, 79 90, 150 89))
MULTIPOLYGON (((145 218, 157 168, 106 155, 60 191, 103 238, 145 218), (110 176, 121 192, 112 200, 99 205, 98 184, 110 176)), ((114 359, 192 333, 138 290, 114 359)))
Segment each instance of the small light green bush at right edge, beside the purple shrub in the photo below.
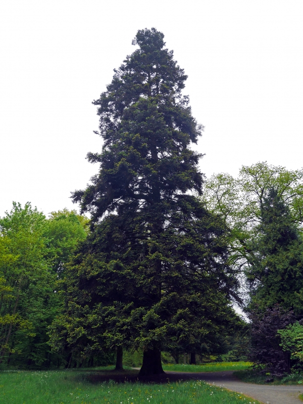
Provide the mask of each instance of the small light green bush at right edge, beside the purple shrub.
POLYGON ((303 361, 303 325, 295 322, 283 330, 278 330, 284 351, 290 352, 291 359, 303 361))

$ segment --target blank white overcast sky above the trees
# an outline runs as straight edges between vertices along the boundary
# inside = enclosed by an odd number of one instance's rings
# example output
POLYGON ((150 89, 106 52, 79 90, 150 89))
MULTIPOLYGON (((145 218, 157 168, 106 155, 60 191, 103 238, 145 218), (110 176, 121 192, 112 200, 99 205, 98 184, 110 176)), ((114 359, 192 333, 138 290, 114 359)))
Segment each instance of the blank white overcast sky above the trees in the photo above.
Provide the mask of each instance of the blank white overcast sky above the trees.
POLYGON ((98 167, 96 108, 113 69, 156 27, 188 74, 205 125, 201 170, 236 175, 267 160, 302 163, 303 2, 9 0, 0 6, 0 216, 12 201, 45 214, 98 167))

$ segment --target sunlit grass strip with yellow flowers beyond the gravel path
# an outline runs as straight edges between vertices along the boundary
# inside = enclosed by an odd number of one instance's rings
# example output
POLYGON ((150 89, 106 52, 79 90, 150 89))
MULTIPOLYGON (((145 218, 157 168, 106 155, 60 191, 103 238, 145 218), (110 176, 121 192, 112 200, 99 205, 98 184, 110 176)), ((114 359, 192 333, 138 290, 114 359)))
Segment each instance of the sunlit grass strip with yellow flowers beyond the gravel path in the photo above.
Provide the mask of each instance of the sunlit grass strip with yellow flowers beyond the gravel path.
POLYGON ((250 365, 249 362, 215 362, 204 365, 163 365, 163 369, 171 372, 225 372, 246 370, 250 365))

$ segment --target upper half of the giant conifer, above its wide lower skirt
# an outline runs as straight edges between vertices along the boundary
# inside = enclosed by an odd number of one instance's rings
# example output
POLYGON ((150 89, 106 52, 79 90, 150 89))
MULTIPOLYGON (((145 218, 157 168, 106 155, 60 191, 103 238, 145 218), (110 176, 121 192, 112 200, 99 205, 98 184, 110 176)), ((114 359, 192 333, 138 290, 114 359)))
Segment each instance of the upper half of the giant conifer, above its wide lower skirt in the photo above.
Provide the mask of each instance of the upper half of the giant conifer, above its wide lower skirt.
POLYGON ((201 192, 201 155, 188 146, 203 127, 182 95, 187 76, 173 51, 164 48, 162 32, 139 30, 132 43, 139 49, 114 70, 107 91, 93 101, 104 144, 101 154, 87 157, 99 162, 100 170, 92 185, 73 194, 93 220, 131 201, 153 205, 192 189, 201 192))

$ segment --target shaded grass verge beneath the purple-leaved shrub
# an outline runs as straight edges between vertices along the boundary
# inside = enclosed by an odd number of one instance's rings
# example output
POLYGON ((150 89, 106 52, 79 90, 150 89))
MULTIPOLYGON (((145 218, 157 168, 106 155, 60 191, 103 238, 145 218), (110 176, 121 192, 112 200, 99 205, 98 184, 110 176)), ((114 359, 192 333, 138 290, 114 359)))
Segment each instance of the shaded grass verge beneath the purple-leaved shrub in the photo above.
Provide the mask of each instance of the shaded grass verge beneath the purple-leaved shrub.
POLYGON ((246 383, 256 384, 272 384, 272 385, 303 385, 303 374, 290 374, 284 377, 273 377, 269 373, 264 374, 260 370, 247 369, 243 371, 235 372, 234 375, 246 383), (274 380, 270 383, 266 382, 266 379, 274 380))

